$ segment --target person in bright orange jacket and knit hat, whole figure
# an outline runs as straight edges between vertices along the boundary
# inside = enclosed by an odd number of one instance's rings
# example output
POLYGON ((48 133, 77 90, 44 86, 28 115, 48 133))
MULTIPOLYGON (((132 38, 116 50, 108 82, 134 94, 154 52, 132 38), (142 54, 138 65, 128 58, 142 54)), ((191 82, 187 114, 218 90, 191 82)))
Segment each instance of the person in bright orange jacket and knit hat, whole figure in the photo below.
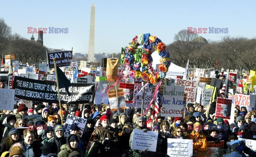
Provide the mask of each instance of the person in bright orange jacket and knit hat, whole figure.
POLYGON ((204 152, 207 150, 206 136, 203 134, 202 129, 202 125, 196 122, 193 131, 189 134, 189 139, 193 139, 193 151, 197 151, 198 156, 204 156, 204 152))

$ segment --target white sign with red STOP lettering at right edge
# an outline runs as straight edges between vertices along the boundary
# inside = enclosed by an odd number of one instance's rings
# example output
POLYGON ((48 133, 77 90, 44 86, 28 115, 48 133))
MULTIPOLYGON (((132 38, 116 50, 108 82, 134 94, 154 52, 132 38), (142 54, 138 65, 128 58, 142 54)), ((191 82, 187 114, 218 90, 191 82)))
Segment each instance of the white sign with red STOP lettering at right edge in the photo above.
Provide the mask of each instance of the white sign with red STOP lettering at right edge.
POLYGON ((235 94, 235 105, 239 105, 239 107, 254 107, 255 106, 255 98, 256 94, 252 95, 244 95, 244 94, 235 94))

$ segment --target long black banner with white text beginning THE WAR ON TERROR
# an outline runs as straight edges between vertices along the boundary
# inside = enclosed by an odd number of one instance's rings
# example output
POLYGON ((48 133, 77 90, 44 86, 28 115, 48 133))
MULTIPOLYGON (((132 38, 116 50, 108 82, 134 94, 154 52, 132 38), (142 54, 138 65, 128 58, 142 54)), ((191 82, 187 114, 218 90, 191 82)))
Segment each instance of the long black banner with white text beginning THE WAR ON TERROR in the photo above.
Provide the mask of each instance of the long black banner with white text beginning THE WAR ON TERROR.
MULTIPOLYGON (((15 97, 25 100, 59 103, 57 84, 53 81, 39 81, 23 77, 14 77, 15 97)), ((89 103, 93 101, 94 84, 71 83, 68 91, 60 89, 62 103, 89 103)))

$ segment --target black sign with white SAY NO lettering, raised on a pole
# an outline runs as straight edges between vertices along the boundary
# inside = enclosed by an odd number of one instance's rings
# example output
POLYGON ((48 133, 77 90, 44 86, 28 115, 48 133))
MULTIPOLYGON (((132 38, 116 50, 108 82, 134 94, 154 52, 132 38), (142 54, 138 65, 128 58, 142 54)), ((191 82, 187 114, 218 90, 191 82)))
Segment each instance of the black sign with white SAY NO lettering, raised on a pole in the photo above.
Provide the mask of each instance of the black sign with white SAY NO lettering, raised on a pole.
POLYGON ((72 62, 72 51, 47 53, 49 68, 54 68, 54 58, 56 59, 57 66, 70 66, 70 63, 72 62))

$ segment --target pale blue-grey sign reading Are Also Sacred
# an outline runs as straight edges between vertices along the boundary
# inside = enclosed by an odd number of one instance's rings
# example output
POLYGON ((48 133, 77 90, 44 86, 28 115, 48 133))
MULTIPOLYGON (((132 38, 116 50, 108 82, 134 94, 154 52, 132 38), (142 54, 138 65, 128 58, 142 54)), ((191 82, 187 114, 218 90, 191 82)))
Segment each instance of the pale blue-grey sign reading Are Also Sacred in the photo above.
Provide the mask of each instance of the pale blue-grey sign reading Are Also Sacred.
POLYGON ((186 104, 184 89, 184 86, 164 86, 162 117, 182 117, 182 111, 186 104))

